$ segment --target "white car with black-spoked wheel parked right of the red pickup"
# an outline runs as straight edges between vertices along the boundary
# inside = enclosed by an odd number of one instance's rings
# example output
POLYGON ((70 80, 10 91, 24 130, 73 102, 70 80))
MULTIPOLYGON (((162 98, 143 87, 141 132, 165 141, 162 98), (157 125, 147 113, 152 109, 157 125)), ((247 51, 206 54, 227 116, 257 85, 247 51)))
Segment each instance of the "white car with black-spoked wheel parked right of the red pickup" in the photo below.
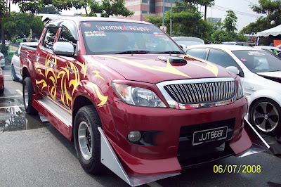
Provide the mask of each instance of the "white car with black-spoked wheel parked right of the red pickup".
POLYGON ((188 55, 240 75, 248 99, 248 119, 263 134, 281 132, 281 60, 262 49, 234 45, 188 46, 188 55))

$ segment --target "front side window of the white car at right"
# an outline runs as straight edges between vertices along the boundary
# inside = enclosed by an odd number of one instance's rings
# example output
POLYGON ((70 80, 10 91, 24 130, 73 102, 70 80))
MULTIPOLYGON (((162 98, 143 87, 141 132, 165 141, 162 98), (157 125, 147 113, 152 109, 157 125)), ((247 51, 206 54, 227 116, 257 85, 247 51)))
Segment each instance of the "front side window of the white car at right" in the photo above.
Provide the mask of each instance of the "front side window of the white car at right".
POLYGON ((240 72, 239 75, 240 76, 243 75, 240 66, 237 65, 237 63, 235 62, 235 60, 233 60, 233 58, 231 58, 227 53, 224 53, 223 51, 210 49, 207 60, 210 61, 211 63, 215 63, 216 65, 221 65, 222 67, 235 66, 238 68, 240 72))

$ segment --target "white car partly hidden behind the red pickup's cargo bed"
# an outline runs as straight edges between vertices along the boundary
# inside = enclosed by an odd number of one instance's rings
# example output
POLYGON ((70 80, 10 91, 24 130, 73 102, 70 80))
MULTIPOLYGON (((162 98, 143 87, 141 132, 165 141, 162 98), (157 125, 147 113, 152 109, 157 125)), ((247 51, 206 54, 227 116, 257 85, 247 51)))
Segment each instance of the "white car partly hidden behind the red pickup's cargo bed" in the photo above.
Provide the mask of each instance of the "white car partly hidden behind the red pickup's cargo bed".
POLYGON ((11 75, 15 82, 22 80, 22 75, 20 74, 20 48, 21 46, 29 46, 32 48, 37 48, 38 42, 22 42, 18 47, 17 51, 13 55, 11 60, 11 75))

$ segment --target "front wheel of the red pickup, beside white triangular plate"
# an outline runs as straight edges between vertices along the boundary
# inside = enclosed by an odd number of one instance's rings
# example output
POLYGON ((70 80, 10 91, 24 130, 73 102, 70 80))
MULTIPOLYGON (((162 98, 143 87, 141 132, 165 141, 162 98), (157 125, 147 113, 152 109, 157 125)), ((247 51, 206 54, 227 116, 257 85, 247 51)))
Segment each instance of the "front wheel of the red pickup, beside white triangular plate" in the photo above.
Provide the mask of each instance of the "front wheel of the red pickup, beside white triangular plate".
POLYGON ((100 162, 98 127, 102 127, 102 124, 93 105, 78 110, 74 120, 74 145, 81 167, 90 174, 103 174, 106 171, 100 162))

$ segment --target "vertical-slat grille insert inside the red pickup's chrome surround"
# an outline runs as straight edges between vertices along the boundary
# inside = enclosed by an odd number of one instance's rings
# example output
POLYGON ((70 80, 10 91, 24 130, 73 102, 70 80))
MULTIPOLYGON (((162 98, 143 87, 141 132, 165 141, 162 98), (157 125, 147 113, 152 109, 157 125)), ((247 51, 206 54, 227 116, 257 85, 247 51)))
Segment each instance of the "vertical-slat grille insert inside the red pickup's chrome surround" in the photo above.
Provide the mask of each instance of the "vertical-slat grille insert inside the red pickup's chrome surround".
POLYGON ((164 86, 164 89, 178 103, 209 103, 233 98, 235 94, 235 80, 168 84, 164 86))

